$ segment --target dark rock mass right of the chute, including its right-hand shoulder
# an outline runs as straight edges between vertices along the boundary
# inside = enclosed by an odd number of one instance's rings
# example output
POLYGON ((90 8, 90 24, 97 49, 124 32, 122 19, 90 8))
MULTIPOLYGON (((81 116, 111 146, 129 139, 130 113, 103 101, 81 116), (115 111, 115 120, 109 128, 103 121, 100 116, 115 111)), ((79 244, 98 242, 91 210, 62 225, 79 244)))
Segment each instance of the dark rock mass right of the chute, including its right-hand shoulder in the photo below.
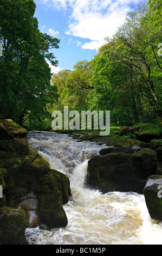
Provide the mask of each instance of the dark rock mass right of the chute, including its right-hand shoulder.
POLYGON ((153 149, 117 147, 101 149, 100 154, 88 161, 87 184, 102 193, 142 194, 148 176, 156 174, 157 154, 153 149))

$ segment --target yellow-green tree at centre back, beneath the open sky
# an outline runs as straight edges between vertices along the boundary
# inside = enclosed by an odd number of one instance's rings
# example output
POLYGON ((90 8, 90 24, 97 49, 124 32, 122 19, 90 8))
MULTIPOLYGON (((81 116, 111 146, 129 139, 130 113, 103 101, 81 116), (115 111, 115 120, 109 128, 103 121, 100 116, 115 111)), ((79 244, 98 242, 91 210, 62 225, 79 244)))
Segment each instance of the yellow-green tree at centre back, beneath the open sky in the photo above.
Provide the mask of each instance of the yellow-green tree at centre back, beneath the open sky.
POLYGON ((63 70, 58 75, 54 74, 51 83, 57 85, 58 92, 62 88, 59 99, 61 106, 69 106, 77 111, 85 109, 88 93, 93 89, 90 85, 91 77, 92 70, 89 69, 87 60, 77 62, 73 71, 63 70))

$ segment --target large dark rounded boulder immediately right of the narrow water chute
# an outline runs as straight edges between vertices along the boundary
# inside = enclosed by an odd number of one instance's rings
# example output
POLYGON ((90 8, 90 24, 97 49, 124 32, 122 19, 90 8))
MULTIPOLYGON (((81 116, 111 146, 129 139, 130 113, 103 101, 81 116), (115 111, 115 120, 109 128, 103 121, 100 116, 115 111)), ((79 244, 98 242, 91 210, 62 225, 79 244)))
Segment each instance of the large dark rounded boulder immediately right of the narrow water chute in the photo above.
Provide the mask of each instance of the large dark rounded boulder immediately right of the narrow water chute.
POLYGON ((131 154, 96 155, 88 161, 87 185, 99 189, 102 193, 142 193, 146 179, 142 161, 137 161, 131 154))

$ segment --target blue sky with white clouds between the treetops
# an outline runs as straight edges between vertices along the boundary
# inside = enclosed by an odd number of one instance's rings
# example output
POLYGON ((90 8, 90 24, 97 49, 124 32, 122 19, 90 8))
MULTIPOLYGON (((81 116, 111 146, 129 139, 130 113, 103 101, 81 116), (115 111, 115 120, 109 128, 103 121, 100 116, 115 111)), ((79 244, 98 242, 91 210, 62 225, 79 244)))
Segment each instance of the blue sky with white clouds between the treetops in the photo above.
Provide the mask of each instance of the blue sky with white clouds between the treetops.
POLYGON ((126 15, 146 0, 34 0, 35 17, 42 33, 60 39, 54 49, 57 67, 51 72, 73 70, 80 60, 94 58, 98 48, 125 21, 126 15))

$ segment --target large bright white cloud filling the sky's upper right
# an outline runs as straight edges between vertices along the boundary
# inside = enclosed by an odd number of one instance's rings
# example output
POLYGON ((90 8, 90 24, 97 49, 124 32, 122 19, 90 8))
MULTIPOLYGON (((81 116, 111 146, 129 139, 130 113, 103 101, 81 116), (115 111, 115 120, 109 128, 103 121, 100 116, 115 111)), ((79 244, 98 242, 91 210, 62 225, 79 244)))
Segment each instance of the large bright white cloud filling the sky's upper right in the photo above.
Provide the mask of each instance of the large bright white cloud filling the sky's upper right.
MULTIPOLYGON (((132 4, 141 4, 145 0, 40 0, 55 8, 66 10, 70 7, 69 26, 65 33, 90 42, 79 44, 83 49, 96 49, 111 38, 116 29, 125 21, 132 4)), ((69 14, 69 12, 68 12, 69 14)))

